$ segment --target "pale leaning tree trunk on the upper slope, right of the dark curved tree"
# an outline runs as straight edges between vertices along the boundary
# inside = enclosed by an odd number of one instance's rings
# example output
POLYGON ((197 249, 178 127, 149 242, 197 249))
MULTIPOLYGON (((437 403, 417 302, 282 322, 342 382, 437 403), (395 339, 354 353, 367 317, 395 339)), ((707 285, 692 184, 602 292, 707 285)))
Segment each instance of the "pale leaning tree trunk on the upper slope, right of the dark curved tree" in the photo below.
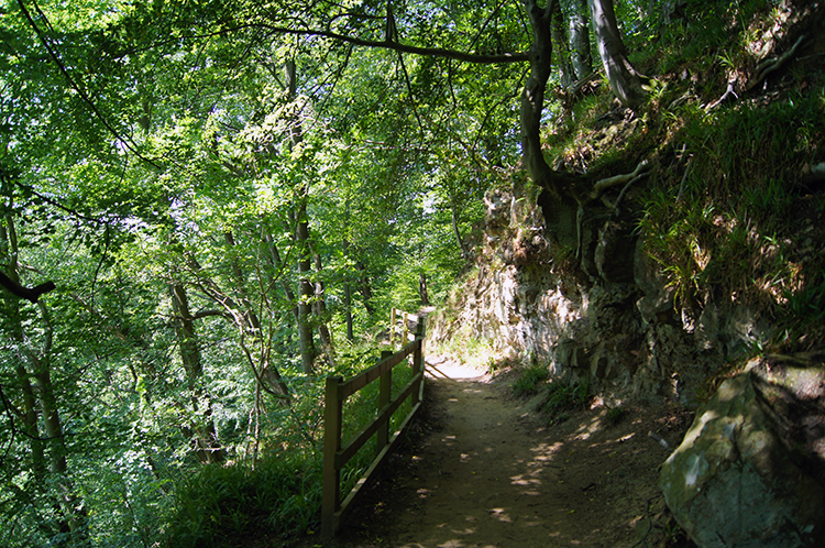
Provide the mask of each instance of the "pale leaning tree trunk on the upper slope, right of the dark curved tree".
POLYGON ((616 24, 613 0, 587 0, 593 30, 607 81, 622 105, 637 109, 645 102, 642 85, 647 77, 636 72, 627 61, 627 51, 616 24))

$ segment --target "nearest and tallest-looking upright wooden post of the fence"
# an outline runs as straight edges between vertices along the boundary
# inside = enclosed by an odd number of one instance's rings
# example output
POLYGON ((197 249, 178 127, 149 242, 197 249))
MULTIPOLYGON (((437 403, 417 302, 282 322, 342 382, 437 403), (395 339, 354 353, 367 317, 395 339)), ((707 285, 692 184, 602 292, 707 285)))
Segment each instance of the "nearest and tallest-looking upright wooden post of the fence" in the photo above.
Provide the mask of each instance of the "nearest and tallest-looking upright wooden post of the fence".
POLYGON ((341 376, 327 379, 323 417, 323 491, 321 494, 321 536, 331 538, 336 534, 336 512, 341 504, 341 471, 336 465, 336 453, 341 449, 342 404, 339 385, 341 376))

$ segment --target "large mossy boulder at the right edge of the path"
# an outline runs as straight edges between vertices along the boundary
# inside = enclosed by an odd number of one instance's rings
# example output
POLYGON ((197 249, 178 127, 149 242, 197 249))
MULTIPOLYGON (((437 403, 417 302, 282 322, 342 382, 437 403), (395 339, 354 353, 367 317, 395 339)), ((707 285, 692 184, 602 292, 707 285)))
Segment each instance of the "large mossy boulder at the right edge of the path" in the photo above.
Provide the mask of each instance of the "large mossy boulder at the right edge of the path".
POLYGON ((702 548, 825 546, 825 366, 773 358, 725 381, 660 487, 702 548))

